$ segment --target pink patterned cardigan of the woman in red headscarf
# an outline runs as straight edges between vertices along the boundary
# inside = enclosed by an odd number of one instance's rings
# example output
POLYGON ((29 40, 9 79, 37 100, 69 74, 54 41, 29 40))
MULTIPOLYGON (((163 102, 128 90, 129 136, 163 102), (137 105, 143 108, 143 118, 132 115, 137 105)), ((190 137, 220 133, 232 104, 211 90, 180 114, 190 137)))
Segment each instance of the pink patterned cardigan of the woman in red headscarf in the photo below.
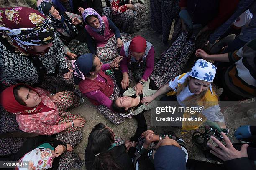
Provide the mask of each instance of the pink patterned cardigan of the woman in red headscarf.
POLYGON ((36 133, 40 135, 53 135, 66 130, 64 124, 58 124, 61 117, 57 106, 46 95, 47 91, 41 88, 35 88, 42 98, 44 105, 53 108, 49 112, 36 113, 36 114, 18 114, 16 120, 20 129, 24 132, 36 133))

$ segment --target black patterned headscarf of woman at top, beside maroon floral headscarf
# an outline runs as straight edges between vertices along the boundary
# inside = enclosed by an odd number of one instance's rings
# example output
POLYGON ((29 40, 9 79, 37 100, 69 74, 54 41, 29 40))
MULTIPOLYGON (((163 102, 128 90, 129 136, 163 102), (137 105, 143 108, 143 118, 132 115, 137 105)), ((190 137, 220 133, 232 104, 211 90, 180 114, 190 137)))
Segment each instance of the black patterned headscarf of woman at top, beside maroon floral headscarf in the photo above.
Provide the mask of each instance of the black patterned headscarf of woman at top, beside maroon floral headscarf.
POLYGON ((51 2, 51 0, 44 0, 38 6, 38 11, 44 15, 48 15, 51 18, 51 24, 54 26, 54 28, 63 28, 71 37, 77 35, 77 28, 70 22, 69 18, 65 18, 63 15, 60 14, 61 20, 58 20, 53 15, 51 15, 51 13, 49 13, 52 6, 53 3, 51 2), (65 23, 67 24, 67 26, 65 23))

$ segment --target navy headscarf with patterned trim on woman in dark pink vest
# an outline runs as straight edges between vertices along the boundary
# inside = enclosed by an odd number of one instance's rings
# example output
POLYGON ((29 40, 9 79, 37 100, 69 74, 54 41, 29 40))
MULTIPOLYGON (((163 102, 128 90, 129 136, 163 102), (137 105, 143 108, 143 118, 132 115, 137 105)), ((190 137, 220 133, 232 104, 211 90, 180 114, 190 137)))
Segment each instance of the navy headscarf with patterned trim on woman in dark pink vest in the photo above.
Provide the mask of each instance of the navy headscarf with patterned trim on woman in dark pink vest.
POLYGON ((93 59, 94 54, 84 54, 81 55, 77 60, 72 60, 72 67, 73 67, 73 77, 74 83, 78 85, 81 80, 85 80, 85 76, 91 70, 93 66, 93 59))

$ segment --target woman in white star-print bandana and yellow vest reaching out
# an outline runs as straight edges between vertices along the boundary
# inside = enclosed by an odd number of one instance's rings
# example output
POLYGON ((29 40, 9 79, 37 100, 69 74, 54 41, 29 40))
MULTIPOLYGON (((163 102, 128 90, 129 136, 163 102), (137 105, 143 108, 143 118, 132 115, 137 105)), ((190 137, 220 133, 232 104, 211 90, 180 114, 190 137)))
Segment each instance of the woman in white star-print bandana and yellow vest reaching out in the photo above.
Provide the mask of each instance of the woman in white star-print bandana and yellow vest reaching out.
MULTIPOLYGON (((189 130, 197 129, 206 119, 218 123, 221 128, 225 128, 224 117, 220 112, 218 104, 216 88, 212 83, 215 74, 216 67, 212 63, 199 59, 195 62, 190 72, 175 77, 153 95, 144 97, 141 103, 150 103, 156 97, 169 92, 161 100, 177 100, 182 107, 204 106, 203 111, 197 114, 203 120, 183 121, 182 134, 187 133, 189 130)), ((185 112, 183 117, 189 118, 190 115, 190 113, 185 112)))

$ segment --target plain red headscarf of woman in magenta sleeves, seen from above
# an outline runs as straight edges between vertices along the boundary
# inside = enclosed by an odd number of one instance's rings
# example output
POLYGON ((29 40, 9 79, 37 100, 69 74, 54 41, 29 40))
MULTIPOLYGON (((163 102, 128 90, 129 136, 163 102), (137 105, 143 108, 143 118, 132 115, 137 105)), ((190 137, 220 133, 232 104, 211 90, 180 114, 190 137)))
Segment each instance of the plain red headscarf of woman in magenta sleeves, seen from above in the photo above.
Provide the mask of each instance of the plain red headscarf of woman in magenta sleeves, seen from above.
POLYGON ((147 41, 141 37, 141 36, 136 36, 134 37, 131 42, 130 42, 130 51, 131 52, 145 52, 147 47, 147 41))

